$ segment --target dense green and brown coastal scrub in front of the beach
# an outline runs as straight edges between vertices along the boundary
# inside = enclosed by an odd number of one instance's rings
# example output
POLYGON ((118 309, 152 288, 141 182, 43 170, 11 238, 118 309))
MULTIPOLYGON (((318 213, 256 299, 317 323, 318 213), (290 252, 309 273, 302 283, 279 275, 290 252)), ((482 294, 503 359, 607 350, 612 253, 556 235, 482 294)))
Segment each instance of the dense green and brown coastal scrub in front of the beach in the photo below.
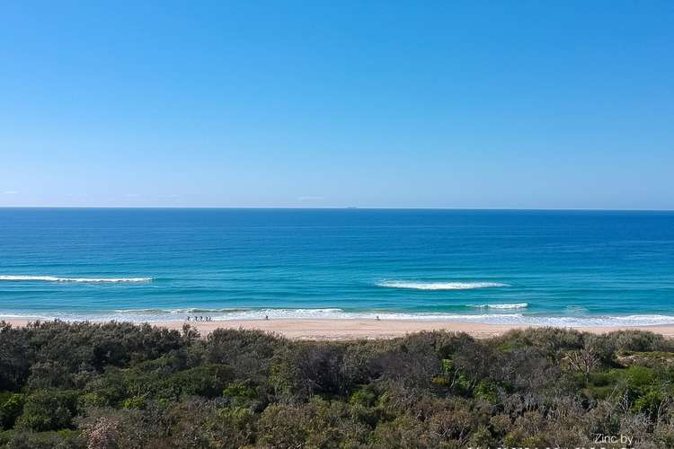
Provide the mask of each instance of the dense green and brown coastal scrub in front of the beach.
POLYGON ((294 341, 0 323, 11 448, 674 447, 673 397, 674 341, 637 330, 294 341))

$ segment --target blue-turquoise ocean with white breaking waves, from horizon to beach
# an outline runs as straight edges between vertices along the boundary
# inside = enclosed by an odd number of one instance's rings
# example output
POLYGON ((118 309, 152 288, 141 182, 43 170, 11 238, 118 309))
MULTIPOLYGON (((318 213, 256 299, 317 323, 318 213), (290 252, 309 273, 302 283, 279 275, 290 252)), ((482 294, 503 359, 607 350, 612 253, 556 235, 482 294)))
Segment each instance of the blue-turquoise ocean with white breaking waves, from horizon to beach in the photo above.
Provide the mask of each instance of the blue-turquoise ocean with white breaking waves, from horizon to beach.
POLYGON ((0 318, 674 322, 674 212, 0 208, 0 318))

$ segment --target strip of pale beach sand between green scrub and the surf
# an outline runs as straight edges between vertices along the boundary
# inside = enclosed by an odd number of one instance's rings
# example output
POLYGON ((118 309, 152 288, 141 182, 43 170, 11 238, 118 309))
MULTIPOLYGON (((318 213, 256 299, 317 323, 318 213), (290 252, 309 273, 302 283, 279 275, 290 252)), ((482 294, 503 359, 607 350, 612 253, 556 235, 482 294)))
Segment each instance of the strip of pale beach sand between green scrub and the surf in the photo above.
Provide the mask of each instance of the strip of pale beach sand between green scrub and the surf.
MULTIPOLYGON (((23 326, 28 320, 7 320, 15 326, 23 326)), ((169 329, 182 329, 186 322, 167 321, 153 323, 169 329)), ((456 321, 403 321, 403 320, 241 320, 207 321, 189 323, 202 335, 217 328, 256 329, 278 333, 290 339, 390 339, 402 337, 421 330, 448 330, 466 332, 477 338, 500 335, 522 326, 481 324, 456 321)), ((674 337, 674 325, 640 327, 581 327, 577 330, 606 333, 614 330, 649 330, 667 337, 674 337)))

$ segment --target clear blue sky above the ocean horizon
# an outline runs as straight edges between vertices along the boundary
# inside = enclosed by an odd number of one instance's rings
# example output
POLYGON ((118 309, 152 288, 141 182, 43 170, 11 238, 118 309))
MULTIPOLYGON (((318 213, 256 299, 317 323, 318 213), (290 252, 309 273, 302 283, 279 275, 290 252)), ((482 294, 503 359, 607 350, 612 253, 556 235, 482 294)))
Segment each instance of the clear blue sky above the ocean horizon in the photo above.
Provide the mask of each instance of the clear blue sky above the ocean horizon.
POLYGON ((0 206, 674 209, 674 3, 0 3, 0 206))

